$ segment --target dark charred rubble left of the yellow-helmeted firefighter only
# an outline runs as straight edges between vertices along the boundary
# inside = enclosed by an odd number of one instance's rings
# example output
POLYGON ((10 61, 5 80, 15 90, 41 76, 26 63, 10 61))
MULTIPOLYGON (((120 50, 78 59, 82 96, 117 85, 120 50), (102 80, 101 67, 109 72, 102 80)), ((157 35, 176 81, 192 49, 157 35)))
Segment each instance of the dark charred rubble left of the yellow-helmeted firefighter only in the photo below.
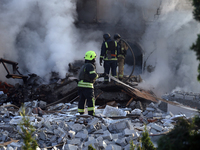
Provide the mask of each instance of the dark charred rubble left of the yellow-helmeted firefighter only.
POLYGON ((56 74, 53 74, 50 83, 44 84, 44 81, 36 74, 29 74, 29 76, 26 84, 17 83, 14 86, 8 86, 4 82, 1 90, 4 91, 4 96, 7 96, 7 98, 1 99, 0 105, 10 102, 20 106, 24 102, 33 100, 52 103, 66 96, 67 98, 64 99, 66 101, 77 96, 77 79, 75 77, 67 76, 60 79, 56 74), (68 97, 69 94, 71 94, 71 97, 68 97))

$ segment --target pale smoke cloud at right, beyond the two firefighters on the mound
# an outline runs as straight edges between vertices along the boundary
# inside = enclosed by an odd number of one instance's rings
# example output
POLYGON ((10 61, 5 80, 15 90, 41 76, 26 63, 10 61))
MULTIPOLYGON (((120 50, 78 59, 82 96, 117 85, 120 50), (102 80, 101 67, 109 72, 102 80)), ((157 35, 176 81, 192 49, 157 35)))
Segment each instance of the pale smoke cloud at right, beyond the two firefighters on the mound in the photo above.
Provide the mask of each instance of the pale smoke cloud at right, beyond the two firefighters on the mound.
POLYGON ((147 64, 155 66, 154 72, 145 72, 143 86, 151 85, 159 95, 174 89, 199 92, 199 62, 190 47, 200 24, 193 19, 190 1, 163 0, 160 8, 142 38, 147 64))

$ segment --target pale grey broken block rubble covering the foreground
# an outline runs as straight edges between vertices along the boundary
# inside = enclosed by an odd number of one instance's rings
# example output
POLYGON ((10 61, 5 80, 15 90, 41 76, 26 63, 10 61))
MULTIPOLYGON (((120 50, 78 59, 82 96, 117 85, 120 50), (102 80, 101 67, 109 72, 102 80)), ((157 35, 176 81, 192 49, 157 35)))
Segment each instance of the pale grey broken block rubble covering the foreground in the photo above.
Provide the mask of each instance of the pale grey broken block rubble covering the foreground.
MULTIPOLYGON (((109 105, 98 109, 97 106, 96 116, 89 116, 87 112, 79 115, 77 107, 77 102, 49 107, 44 101, 25 102, 26 115, 36 128, 38 150, 87 150, 90 144, 97 150, 129 150, 130 141, 139 144, 145 125, 151 137, 160 136, 173 129, 177 118, 185 117, 164 112, 153 102, 144 111, 109 105)), ((1 150, 20 149, 23 145, 19 135, 20 111, 21 108, 9 103, 0 107, 1 150)))

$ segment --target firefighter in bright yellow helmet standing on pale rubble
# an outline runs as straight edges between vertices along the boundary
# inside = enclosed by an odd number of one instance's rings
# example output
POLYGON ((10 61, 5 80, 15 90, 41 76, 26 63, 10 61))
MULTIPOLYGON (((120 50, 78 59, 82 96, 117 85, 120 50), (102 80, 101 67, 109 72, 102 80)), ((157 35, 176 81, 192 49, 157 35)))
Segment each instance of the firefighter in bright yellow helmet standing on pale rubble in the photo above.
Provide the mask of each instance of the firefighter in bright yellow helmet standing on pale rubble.
POLYGON ((85 105, 88 106, 88 114, 95 115, 95 96, 94 96, 94 82, 98 78, 96 73, 96 53, 94 51, 88 51, 85 53, 85 64, 80 69, 78 93, 79 103, 78 112, 84 114, 85 105))

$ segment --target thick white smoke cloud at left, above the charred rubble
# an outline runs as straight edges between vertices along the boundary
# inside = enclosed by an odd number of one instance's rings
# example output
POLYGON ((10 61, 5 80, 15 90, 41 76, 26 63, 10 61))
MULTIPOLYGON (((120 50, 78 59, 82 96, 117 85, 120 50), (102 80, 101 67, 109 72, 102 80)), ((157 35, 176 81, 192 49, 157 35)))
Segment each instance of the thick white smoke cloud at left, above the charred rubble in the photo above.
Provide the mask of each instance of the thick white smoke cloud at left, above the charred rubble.
MULTIPOLYGON (((18 62, 24 75, 45 78, 55 71, 62 78, 70 62, 83 60, 88 50, 99 51, 96 39, 102 37, 101 31, 75 27, 76 1, 10 0, 0 4, 0 57, 18 62)), ((6 80, 5 69, 0 69, 0 79, 6 80)))

